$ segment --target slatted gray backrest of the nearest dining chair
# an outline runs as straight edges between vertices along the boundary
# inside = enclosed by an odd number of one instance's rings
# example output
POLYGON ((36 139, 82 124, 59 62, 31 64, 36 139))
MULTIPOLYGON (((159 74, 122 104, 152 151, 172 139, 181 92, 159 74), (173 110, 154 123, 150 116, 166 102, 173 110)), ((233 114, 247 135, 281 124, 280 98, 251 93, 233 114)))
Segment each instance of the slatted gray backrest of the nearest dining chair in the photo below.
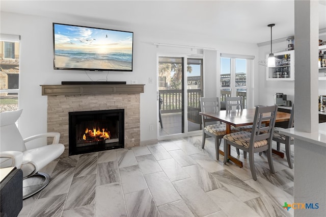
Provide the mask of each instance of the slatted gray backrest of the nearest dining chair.
POLYGON ((277 105, 256 107, 250 144, 261 140, 267 140, 269 144, 271 143, 276 114, 277 105))

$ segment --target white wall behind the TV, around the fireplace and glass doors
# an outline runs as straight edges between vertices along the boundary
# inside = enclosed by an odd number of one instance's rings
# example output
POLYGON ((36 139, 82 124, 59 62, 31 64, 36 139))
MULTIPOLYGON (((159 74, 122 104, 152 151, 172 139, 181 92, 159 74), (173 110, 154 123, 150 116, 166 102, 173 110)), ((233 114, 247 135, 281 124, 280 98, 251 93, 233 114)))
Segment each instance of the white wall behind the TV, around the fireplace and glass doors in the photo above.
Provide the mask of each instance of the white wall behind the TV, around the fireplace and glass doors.
MULTIPOLYGON (((127 84, 130 84, 131 79, 133 79, 138 80, 139 84, 145 84, 145 93, 141 94, 142 142, 156 140, 158 137, 156 133, 158 124, 156 101, 157 53, 183 53, 184 55, 193 53, 188 48, 163 46, 157 48, 153 43, 213 47, 218 49, 218 59, 220 52, 258 56, 256 44, 217 41, 215 38, 210 38, 203 33, 188 35, 184 32, 171 33, 141 28, 140 26, 128 26, 128 24, 116 25, 118 22, 111 24, 104 24, 103 21, 91 23, 86 21, 86 18, 83 19, 76 20, 67 16, 51 18, 1 13, 1 33, 21 36, 19 107, 23 109, 20 119, 20 130, 23 137, 46 132, 47 130, 47 97, 41 95, 40 85, 60 85, 62 81, 69 80, 89 81, 85 71, 53 70, 52 22, 134 32, 133 71, 109 72, 108 80, 126 81, 127 84), (152 84, 148 82, 149 77, 153 78, 152 84), (149 131, 150 124, 154 126, 153 131, 149 131)), ((255 60, 255 63, 257 61, 258 59, 255 60)), ((219 63, 216 65, 219 66, 219 63)), ((219 74, 219 67, 210 70, 210 72, 219 74)), ((107 74, 106 72, 90 71, 87 73, 93 80, 105 79, 107 74)), ((257 73, 257 68, 255 68, 252 76, 253 80, 257 79, 257 73)), ((219 77, 215 74, 205 74, 204 76, 207 79, 219 77)), ((254 86, 254 82, 251 84, 254 86)), ((213 93, 217 93, 219 84, 209 88, 213 93)), ((255 94, 255 97, 253 103, 257 104, 259 103, 257 101, 258 95, 255 94)), ((261 96, 261 98, 264 98, 264 96, 261 96)))

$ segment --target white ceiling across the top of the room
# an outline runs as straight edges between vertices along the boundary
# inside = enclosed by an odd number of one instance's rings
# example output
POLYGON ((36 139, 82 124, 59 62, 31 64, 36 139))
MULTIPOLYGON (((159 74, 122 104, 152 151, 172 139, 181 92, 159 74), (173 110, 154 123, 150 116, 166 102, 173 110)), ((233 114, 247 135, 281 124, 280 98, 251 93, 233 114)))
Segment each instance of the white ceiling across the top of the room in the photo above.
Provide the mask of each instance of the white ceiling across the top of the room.
MULTIPOLYGON (((1 11, 67 17, 120 26, 205 34, 245 43, 294 35, 294 1, 1 1, 1 11)), ((318 1, 319 30, 326 34, 326 0, 318 1)), ((69 19, 68 19, 69 20, 69 19)), ((69 23, 67 23, 69 24, 69 23)))

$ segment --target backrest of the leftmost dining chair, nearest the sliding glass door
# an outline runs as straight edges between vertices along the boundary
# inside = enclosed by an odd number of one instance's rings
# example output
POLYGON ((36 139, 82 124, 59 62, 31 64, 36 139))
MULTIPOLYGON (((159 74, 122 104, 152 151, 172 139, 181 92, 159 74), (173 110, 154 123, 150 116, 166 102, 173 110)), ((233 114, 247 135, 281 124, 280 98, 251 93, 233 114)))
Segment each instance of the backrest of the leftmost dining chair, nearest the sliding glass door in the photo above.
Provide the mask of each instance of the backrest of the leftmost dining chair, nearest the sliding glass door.
MULTIPOLYGON (((220 100, 218 97, 212 97, 212 98, 200 97, 199 100, 200 100, 200 109, 202 112, 209 112, 209 113, 220 112, 221 110, 220 100)), ((216 120, 202 115, 202 122, 205 127, 206 126, 205 123, 216 122, 216 120)))

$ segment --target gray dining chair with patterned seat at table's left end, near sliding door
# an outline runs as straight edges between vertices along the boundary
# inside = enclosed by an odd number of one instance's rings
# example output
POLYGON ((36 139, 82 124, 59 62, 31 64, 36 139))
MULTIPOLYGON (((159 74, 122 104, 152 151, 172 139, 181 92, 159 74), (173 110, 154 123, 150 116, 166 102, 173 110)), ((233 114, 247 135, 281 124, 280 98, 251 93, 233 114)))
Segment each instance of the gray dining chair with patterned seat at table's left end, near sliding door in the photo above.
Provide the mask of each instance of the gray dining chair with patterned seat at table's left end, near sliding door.
MULTIPOLYGON (((218 97, 213 98, 204 98, 200 97, 200 108, 202 112, 213 112, 218 113, 220 112, 220 100, 218 97)), ((205 141, 207 135, 209 137, 214 138, 215 140, 215 151, 216 151, 216 159, 219 159, 220 153, 220 145, 222 138, 226 134, 226 126, 222 123, 216 123, 217 121, 212 118, 208 118, 202 115, 202 129, 203 129, 203 141, 202 141, 202 148, 205 147, 205 141), (213 123, 214 122, 214 123, 213 123)), ((231 127, 231 132, 235 132, 234 127, 231 127)))

